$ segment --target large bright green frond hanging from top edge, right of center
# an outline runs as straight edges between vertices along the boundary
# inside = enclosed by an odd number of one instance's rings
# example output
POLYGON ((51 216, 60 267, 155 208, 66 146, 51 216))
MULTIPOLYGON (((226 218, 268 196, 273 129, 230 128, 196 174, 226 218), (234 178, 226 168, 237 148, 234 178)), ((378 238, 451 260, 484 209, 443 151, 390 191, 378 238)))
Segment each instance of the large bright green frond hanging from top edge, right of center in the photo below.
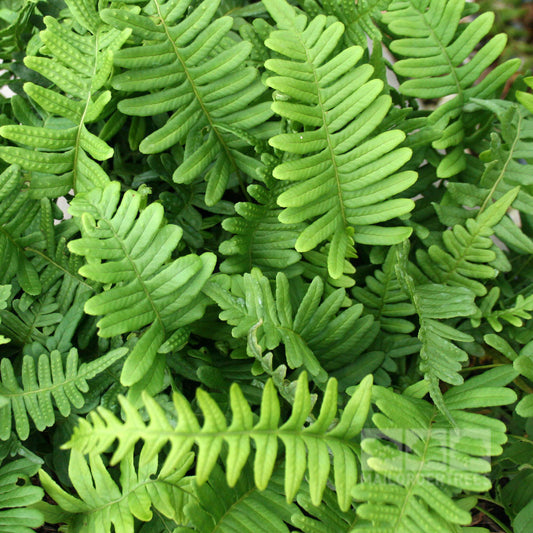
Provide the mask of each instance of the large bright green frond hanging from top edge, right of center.
POLYGON ((411 228, 379 224, 411 211, 408 198, 391 199, 410 187, 413 171, 398 172, 411 157, 398 148, 400 130, 373 135, 387 115, 391 99, 383 82, 371 79, 373 67, 357 66, 363 49, 353 46, 335 54, 344 26, 319 15, 309 24, 285 0, 265 1, 281 28, 267 39, 269 48, 288 59, 270 59, 265 66, 278 74, 267 83, 282 95, 272 108, 304 125, 296 133, 270 139, 283 152, 297 154, 277 166, 274 177, 291 186, 278 198, 283 223, 307 222, 296 241, 306 252, 330 241, 328 271, 342 275, 354 242, 396 244, 411 228))

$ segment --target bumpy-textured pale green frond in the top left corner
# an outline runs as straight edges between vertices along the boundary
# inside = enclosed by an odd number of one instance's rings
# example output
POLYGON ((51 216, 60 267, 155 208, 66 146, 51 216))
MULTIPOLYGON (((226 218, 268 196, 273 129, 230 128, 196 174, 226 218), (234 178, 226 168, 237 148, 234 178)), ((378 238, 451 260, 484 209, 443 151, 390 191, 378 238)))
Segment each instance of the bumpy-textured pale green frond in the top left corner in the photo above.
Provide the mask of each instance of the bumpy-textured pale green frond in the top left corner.
POLYGON ((89 190, 109 181, 97 161, 109 159, 113 149, 86 124, 97 120, 111 99, 110 91, 102 88, 112 72, 113 52, 130 34, 103 24, 89 0, 67 4, 83 33, 45 17, 41 53, 48 57, 27 56, 24 60, 61 92, 26 83, 24 90, 42 118, 35 116, 35 124, 0 128, 2 137, 21 145, 1 146, 0 157, 20 165, 36 194, 49 197, 70 189, 89 190))

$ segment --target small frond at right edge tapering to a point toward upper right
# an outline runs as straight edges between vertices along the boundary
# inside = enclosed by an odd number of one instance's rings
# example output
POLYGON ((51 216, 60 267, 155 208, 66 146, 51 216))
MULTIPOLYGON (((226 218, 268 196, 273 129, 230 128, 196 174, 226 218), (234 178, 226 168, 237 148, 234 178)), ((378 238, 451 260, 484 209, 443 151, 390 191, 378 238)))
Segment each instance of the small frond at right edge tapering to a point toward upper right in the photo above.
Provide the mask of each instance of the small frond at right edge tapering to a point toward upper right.
POLYGON ((498 275, 487 264, 496 259, 490 237, 517 194, 515 188, 492 204, 484 203, 476 218, 469 218, 465 226, 456 225, 442 234, 443 246, 433 244, 427 252, 419 248, 416 258, 424 273, 435 283, 465 287, 476 296, 484 296, 487 289, 478 280, 498 275))

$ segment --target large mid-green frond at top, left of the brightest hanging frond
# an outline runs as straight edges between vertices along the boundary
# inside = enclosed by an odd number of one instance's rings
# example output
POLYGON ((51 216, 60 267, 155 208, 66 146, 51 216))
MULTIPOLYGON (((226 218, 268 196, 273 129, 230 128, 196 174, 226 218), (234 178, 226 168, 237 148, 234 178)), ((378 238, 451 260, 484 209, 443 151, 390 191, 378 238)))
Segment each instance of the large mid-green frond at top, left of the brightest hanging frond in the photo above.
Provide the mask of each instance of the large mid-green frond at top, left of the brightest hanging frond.
POLYGON ((232 131, 253 134, 272 115, 261 102, 266 88, 257 70, 246 66, 251 45, 229 37, 233 19, 214 19, 220 0, 151 0, 142 13, 104 9, 102 18, 118 28, 133 28, 138 46, 115 54, 126 72, 113 79, 120 91, 147 93, 120 102, 128 115, 152 116, 171 112, 164 125, 139 146, 142 153, 158 153, 178 142, 185 144, 185 160, 173 175, 177 183, 191 183, 205 175, 205 201, 214 205, 232 174, 255 176, 260 165, 239 150, 232 131), (187 145, 194 145, 194 150, 187 145))

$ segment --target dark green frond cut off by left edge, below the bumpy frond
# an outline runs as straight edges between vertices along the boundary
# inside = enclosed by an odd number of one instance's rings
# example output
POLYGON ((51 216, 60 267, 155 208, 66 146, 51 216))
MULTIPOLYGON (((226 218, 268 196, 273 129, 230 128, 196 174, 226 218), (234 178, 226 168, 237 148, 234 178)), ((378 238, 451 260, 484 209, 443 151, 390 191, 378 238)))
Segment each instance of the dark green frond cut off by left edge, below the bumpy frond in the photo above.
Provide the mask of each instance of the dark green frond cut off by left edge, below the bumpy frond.
POLYGON ((20 167, 9 166, 0 174, 0 282, 8 283, 16 276, 31 295, 40 294, 41 282, 25 247, 40 241, 38 233, 29 231, 38 213, 39 202, 23 189, 20 167))

